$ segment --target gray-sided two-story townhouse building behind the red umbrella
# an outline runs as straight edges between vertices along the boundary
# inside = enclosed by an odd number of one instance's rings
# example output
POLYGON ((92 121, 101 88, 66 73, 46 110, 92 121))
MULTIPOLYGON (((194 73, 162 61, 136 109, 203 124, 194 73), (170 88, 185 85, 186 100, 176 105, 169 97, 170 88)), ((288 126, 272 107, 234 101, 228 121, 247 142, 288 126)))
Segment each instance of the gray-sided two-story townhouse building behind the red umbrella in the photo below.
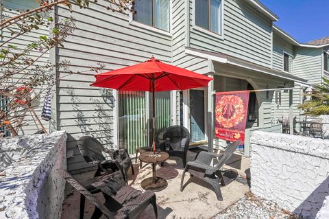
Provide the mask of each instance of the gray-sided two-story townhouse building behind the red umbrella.
MULTIPOLYGON (((14 1, 14 0, 12 0, 14 1)), ((90 2, 88 9, 56 7, 60 18, 73 16, 77 30, 64 48, 50 53, 51 62, 68 60, 69 70, 86 71, 105 64, 103 71, 134 65, 152 55, 214 78, 208 88, 157 94, 158 129, 173 124, 186 126, 193 144, 223 146, 211 130, 214 117, 213 91, 270 89, 250 94, 245 155, 249 132, 281 132, 278 119, 300 118, 297 104, 302 89, 321 82, 328 73, 326 45, 304 45, 273 25, 278 16, 257 0, 135 0, 136 13, 112 12, 107 1, 90 2), (312 58, 326 57, 327 71, 312 58), (310 59, 310 65, 304 60, 310 59), (313 65, 313 66, 312 66, 313 65), (313 74, 314 72, 314 74, 313 74), (318 75, 315 72, 319 72, 318 75), (312 75, 312 76, 310 76, 312 75), (313 78, 312 78, 313 77, 313 78), (278 88, 293 88, 273 91, 278 88)), ((70 74, 56 84, 52 101, 51 130, 66 130, 70 171, 88 165, 77 148, 83 135, 97 137, 106 147, 137 147, 151 141, 149 106, 143 92, 110 91, 90 87, 94 72, 70 74)))

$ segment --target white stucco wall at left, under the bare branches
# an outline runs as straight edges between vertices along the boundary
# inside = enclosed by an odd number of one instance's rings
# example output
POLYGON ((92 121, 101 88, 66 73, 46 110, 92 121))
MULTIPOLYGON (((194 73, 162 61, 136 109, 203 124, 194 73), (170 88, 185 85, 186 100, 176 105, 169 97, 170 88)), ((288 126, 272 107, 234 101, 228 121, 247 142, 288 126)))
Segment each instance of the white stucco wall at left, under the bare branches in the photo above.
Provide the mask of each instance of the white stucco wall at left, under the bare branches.
POLYGON ((0 139, 0 157, 0 218, 60 218, 66 133, 0 139))

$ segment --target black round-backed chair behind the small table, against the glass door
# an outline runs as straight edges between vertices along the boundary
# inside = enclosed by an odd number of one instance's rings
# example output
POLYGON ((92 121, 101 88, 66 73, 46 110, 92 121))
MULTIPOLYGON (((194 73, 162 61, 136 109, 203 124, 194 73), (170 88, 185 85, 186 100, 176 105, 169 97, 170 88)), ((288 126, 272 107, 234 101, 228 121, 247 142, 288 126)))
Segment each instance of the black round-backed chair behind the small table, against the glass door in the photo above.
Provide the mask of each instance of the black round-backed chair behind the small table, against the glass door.
POLYGON ((182 158, 185 167, 190 132, 184 126, 170 126, 164 132, 163 139, 164 141, 160 142, 160 150, 167 152, 169 156, 182 158))

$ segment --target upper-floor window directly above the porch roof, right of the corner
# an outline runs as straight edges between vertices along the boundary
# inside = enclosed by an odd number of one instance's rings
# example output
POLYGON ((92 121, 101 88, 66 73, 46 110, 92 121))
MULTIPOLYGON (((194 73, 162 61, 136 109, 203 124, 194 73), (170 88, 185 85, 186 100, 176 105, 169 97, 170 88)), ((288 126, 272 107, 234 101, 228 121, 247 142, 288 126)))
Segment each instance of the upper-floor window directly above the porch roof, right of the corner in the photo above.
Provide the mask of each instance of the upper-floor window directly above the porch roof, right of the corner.
POLYGON ((221 34, 222 0, 195 0, 195 25, 221 34))

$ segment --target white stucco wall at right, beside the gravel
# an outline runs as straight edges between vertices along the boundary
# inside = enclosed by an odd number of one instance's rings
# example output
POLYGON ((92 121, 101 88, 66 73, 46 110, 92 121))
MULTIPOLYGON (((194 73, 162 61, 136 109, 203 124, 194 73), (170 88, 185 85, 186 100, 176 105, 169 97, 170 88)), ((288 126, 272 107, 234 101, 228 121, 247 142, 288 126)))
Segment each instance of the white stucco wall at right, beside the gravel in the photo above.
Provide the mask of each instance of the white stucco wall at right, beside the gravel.
POLYGON ((252 192, 304 218, 329 196, 329 140, 252 132, 252 192))

